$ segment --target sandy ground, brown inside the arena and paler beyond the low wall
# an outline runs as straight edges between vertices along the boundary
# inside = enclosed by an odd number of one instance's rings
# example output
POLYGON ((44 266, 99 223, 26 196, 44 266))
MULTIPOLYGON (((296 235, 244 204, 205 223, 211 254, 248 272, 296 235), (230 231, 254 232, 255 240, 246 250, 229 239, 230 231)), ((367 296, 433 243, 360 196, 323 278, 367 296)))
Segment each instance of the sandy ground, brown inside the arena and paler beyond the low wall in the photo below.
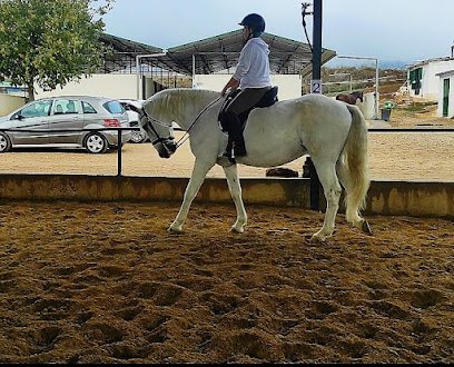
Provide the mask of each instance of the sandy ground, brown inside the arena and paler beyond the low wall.
MULTIPOLYGON (((452 133, 369 137, 373 178, 454 180, 452 133)), ((124 175, 188 177, 187 149, 126 145, 124 175)), ((0 162, 117 172, 115 152, 0 162)), ((452 221, 374 216, 366 236, 338 215, 318 244, 323 214, 247 205, 237 235, 233 204, 195 204, 169 235, 179 205, 1 201, 0 363, 454 363, 452 221)))

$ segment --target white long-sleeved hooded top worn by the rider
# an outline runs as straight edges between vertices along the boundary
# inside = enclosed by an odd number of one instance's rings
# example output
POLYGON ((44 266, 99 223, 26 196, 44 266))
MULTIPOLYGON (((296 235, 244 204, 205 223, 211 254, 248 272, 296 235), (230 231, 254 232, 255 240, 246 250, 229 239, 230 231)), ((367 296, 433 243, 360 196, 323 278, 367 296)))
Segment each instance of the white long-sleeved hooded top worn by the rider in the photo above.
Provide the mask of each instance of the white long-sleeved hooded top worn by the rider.
POLYGON ((268 54, 268 44, 261 38, 255 37, 246 42, 234 73, 240 89, 272 86, 268 54))

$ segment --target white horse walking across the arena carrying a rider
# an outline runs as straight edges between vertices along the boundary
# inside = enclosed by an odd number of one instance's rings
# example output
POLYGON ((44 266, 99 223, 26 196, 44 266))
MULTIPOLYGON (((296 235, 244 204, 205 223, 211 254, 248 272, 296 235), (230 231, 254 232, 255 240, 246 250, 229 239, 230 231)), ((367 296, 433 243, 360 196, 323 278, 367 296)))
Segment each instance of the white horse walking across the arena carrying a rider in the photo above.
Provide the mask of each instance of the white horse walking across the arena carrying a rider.
MULTIPOLYGON (((170 232, 182 231, 189 207, 216 163, 224 168, 237 210, 231 230, 245 230, 247 215, 237 166, 221 159, 228 138, 217 119, 223 102, 224 97, 211 90, 166 89, 149 98, 138 111, 140 123, 161 158, 169 158, 177 148, 172 121, 187 131, 196 157, 182 205, 168 229, 170 232)), ((367 221, 359 215, 369 179, 367 128, 357 107, 322 95, 278 101, 250 112, 244 138, 247 156, 237 158, 238 163, 275 167, 310 155, 327 201, 324 225, 313 239, 323 241, 333 235, 342 194, 339 181, 346 191, 346 219, 371 234, 367 221)))

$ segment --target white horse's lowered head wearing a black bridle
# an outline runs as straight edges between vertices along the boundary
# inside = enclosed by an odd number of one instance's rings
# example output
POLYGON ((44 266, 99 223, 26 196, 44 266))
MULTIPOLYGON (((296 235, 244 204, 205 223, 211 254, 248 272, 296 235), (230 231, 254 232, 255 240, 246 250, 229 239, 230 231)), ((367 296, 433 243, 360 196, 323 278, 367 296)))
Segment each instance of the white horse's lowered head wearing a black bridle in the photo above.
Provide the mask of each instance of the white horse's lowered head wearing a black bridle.
POLYGON ((134 109, 131 107, 131 109, 139 113, 139 123, 147 132, 159 157, 170 158, 177 150, 177 142, 174 137, 172 121, 166 120, 166 115, 162 112, 165 106, 162 106, 162 101, 159 98, 148 99, 144 102, 141 109, 134 109))

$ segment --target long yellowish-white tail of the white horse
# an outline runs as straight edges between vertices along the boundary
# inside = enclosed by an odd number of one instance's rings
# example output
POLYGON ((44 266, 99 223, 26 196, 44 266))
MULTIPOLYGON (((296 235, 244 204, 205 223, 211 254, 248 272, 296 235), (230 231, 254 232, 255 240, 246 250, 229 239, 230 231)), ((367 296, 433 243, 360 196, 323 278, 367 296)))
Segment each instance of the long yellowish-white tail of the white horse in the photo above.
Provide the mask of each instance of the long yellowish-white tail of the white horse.
POLYGON ((364 209, 371 185, 367 167, 367 127, 363 113, 356 106, 346 105, 352 113, 352 127, 342 152, 348 171, 348 187, 345 196, 346 219, 357 224, 362 220, 359 211, 364 209))

